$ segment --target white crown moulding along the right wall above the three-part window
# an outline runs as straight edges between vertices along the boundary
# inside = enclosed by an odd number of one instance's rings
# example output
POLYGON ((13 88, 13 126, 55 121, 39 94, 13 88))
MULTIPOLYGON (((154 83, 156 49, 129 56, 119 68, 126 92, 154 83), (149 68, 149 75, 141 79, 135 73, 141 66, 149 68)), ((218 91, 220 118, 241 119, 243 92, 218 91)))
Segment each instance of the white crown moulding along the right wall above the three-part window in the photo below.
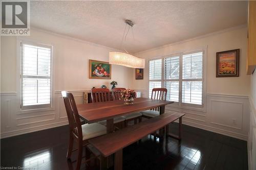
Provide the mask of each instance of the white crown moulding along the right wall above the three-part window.
POLYGON ((209 36, 212 36, 212 35, 225 33, 225 32, 231 31, 231 30, 236 30, 236 29, 240 29, 240 28, 244 28, 244 27, 247 27, 247 25, 243 24, 243 25, 227 28, 227 29, 224 29, 224 30, 216 31, 216 32, 213 32, 213 33, 197 36, 197 37, 194 37, 194 38, 189 38, 189 39, 185 39, 185 40, 182 40, 182 41, 178 41, 178 42, 174 42, 174 43, 158 46, 158 47, 155 47, 155 48, 151 48, 149 50, 145 50, 145 51, 141 51, 141 52, 135 53, 135 55, 139 55, 141 53, 146 53, 146 52, 151 52, 151 51, 154 51, 154 50, 159 50, 161 48, 165 48, 165 47, 168 47, 168 46, 173 46, 173 45, 184 43, 184 42, 187 42, 187 41, 192 41, 192 40, 196 40, 196 39, 202 39, 202 38, 205 38, 205 37, 209 37, 209 36))

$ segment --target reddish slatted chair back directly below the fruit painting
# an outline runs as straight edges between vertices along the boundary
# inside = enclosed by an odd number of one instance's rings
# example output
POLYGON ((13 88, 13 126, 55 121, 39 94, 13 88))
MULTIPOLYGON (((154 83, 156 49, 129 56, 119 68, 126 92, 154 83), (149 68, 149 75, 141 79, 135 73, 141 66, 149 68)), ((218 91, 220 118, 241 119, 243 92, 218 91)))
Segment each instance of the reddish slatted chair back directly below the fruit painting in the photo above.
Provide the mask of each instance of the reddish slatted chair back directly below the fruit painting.
POLYGON ((110 90, 108 88, 93 88, 91 90, 92 102, 107 102, 111 100, 110 90))

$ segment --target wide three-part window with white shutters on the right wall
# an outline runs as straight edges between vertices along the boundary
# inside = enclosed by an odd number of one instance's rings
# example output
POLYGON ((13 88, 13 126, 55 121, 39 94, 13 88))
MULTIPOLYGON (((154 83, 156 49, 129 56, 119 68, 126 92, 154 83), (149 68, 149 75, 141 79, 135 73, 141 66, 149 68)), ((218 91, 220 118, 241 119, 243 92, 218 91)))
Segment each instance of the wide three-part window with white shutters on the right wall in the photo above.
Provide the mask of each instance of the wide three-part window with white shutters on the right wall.
POLYGON ((203 107, 203 50, 151 60, 149 97, 153 88, 167 88, 166 100, 179 106, 203 107), (163 69, 162 69, 163 68, 163 69))

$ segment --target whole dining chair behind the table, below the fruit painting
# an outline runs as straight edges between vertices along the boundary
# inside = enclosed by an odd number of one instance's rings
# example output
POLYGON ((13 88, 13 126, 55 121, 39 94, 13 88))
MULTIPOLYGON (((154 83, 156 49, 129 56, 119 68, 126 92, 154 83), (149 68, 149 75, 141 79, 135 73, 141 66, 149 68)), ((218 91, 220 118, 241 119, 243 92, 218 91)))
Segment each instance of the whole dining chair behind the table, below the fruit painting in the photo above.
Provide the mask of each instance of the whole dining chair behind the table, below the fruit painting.
MULTIPOLYGON (((114 99, 114 96, 111 96, 110 90, 108 88, 93 88, 91 90, 91 94, 93 103, 108 102, 111 101, 112 98, 114 99)), ((99 123, 106 126, 106 120, 100 121, 99 123)), ((120 128, 124 127, 125 118, 121 116, 114 118, 114 125, 120 128), (120 124, 121 126, 118 126, 117 124, 120 124)))

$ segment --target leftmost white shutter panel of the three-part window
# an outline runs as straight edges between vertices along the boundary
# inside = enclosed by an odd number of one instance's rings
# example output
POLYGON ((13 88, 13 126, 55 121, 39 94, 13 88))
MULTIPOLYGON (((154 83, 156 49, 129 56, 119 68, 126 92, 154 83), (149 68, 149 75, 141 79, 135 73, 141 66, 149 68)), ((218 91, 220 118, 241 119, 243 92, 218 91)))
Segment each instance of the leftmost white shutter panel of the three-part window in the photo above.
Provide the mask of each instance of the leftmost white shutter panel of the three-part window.
POLYGON ((162 87, 162 59, 150 61, 150 83, 148 97, 151 98, 153 88, 162 87))

